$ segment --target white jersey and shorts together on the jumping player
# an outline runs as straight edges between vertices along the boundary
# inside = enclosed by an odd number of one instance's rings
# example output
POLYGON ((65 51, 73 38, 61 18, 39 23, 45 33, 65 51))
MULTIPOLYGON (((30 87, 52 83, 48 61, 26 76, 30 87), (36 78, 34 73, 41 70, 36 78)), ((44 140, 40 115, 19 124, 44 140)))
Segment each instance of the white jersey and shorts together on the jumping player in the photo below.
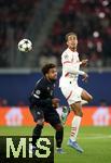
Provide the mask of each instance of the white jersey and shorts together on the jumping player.
POLYGON ((66 49, 61 54, 63 75, 59 79, 59 87, 69 104, 81 101, 82 88, 78 86, 80 71, 79 53, 66 49))

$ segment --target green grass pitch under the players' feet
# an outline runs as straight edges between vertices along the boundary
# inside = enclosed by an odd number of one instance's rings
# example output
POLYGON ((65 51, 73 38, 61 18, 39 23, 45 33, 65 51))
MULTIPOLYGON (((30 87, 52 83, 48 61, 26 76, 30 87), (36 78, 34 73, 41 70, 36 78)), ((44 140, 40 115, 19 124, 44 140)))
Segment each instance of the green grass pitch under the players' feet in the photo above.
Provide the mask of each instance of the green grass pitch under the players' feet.
MULTIPOLYGON (((0 127, 0 135, 31 135, 32 127, 0 127)), ((44 127, 43 135, 54 135, 52 127, 44 127)), ((65 127, 63 148, 65 154, 55 154, 55 163, 111 163, 111 127, 81 127, 78 142, 84 149, 79 153, 67 146, 70 127, 65 127)))

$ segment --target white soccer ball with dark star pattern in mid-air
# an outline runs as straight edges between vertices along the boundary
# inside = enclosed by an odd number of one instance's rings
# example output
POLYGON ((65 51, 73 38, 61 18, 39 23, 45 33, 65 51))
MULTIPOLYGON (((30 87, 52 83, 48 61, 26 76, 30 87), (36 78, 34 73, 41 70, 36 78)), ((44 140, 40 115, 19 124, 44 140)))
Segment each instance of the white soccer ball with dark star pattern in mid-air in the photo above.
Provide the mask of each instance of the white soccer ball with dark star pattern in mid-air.
POLYGON ((22 52, 29 52, 32 49, 32 43, 29 39, 22 39, 18 42, 18 50, 22 52))

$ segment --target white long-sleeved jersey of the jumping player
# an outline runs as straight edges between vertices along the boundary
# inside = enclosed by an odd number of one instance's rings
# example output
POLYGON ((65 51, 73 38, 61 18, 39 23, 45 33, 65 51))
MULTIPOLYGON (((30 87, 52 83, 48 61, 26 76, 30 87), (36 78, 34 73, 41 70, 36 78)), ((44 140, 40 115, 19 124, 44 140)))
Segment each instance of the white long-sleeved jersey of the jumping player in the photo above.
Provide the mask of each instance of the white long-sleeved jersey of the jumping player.
POLYGON ((78 84, 79 70, 80 70, 80 59, 77 51, 71 51, 69 48, 66 49, 61 54, 63 63, 63 75, 59 82, 59 87, 66 85, 66 80, 73 80, 74 84, 78 84))

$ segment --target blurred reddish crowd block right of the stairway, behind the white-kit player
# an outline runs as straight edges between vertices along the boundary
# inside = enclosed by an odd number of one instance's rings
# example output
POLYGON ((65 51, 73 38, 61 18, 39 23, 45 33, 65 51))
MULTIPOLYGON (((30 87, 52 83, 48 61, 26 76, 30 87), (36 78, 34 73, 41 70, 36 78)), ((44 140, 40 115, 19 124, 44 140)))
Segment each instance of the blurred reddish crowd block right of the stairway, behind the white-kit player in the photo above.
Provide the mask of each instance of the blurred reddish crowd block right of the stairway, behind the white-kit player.
MULTIPOLYGON (((79 52, 88 58, 89 66, 111 64, 111 2, 108 0, 66 0, 65 5, 48 35, 45 55, 48 51, 57 58, 63 51, 65 35, 75 32, 79 36, 79 52), (50 42, 50 43, 48 43, 50 42), (46 49, 47 52, 46 52, 46 49), (105 62, 106 59, 106 62, 105 62)), ((42 50, 43 50, 42 49, 42 50)))

